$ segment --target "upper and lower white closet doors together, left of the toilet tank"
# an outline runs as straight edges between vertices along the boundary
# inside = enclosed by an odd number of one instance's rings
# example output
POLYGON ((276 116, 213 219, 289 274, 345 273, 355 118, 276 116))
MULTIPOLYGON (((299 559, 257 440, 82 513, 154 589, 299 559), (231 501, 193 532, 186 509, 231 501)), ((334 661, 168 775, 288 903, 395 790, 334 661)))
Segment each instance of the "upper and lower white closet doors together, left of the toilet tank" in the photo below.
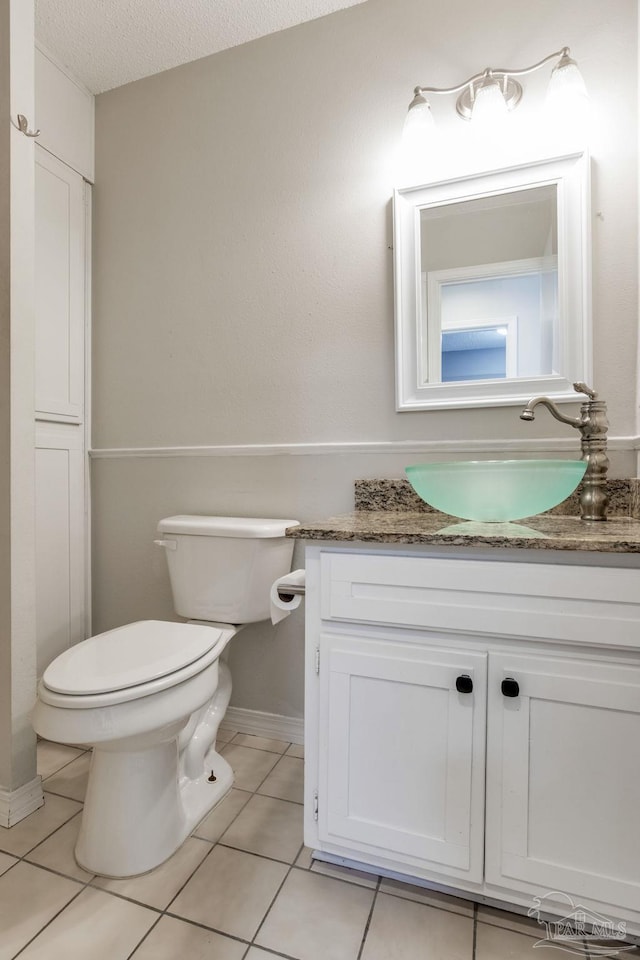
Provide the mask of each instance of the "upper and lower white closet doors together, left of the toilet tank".
POLYGON ((85 183, 36 147, 38 675, 86 636, 85 183))

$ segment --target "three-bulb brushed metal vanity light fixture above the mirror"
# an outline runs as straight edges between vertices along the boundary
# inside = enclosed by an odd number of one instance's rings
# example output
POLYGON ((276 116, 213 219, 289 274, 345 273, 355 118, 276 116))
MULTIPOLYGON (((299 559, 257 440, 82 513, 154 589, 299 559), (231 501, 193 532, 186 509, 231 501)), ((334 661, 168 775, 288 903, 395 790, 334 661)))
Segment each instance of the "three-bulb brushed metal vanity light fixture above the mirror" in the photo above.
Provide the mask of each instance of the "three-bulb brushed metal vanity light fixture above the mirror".
POLYGON ((426 144, 435 129, 431 105, 424 94, 458 94, 456 111, 463 120, 474 124, 491 124, 513 110, 522 98, 522 85, 516 79, 539 70, 552 60, 557 60, 551 71, 547 102, 550 107, 561 106, 571 110, 572 104, 584 103, 587 90, 569 47, 563 47, 531 67, 522 70, 503 70, 487 67, 455 87, 416 87, 409 104, 404 125, 403 139, 412 145, 426 144), (555 103, 554 103, 555 102, 555 103))

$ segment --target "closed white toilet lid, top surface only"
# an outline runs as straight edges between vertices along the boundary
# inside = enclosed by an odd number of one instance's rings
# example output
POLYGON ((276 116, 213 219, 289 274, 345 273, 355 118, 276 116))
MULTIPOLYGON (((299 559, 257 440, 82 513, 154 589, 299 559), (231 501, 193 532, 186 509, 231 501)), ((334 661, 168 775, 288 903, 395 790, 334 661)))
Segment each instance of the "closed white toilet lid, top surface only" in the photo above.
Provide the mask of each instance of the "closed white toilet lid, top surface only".
POLYGON ((158 680, 203 657, 222 630, 193 623, 140 620, 99 633, 65 650, 44 672, 49 690, 108 693, 158 680))

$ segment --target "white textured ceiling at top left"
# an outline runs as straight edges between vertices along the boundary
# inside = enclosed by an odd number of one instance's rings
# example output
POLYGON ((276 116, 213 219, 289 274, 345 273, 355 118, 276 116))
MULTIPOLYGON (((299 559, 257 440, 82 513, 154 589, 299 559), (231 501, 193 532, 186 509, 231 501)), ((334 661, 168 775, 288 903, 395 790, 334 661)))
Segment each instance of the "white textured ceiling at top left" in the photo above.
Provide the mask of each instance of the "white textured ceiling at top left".
POLYGON ((364 0, 36 0, 36 38, 93 93, 364 0))

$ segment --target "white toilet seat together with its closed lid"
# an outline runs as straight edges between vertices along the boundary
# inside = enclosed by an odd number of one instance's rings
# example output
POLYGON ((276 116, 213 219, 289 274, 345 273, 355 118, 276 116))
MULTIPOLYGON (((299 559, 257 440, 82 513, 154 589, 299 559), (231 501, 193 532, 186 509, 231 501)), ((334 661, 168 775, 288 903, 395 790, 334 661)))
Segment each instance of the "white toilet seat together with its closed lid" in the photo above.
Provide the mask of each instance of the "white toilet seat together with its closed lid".
POLYGON ((125 703, 177 686, 217 660, 235 627, 141 620, 65 650, 44 672, 40 699, 71 709, 125 703))

